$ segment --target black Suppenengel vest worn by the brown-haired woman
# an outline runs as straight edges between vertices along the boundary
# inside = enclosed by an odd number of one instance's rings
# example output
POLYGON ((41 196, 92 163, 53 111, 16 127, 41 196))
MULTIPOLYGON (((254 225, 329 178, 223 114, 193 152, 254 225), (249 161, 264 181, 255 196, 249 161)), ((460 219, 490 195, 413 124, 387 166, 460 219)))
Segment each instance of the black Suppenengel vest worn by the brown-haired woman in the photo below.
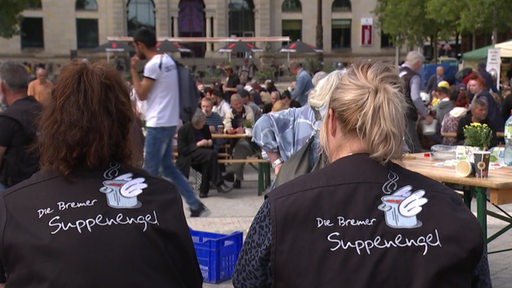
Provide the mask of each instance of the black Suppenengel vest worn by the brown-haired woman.
POLYGON ((36 173, 0 195, 0 239, 7 287, 202 287, 176 186, 139 169, 36 173))

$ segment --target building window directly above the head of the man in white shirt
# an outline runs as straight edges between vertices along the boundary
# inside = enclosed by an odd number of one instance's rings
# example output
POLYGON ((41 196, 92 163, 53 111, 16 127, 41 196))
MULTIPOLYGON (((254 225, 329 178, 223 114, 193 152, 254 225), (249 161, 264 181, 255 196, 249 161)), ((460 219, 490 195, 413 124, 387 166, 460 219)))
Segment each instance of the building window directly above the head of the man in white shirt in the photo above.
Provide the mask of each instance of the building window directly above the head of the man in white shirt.
POLYGON ((139 28, 155 31, 155 3, 153 0, 129 0, 126 4, 128 14, 128 36, 133 36, 139 28))

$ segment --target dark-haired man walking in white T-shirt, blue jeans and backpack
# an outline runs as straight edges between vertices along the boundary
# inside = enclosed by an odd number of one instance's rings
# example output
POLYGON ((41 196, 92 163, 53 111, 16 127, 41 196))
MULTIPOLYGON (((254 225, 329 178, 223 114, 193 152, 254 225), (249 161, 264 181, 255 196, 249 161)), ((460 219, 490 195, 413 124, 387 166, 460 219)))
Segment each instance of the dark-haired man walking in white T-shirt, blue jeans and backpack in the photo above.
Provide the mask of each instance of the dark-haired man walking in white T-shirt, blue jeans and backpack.
POLYGON ((197 199, 187 179, 172 162, 173 137, 179 124, 179 89, 176 63, 156 49, 155 33, 146 28, 133 36, 137 51, 131 58, 133 89, 140 100, 146 100, 146 140, 143 168, 153 175, 171 179, 190 207, 191 217, 207 216, 210 211, 197 199), (148 59, 142 80, 137 63, 148 59))

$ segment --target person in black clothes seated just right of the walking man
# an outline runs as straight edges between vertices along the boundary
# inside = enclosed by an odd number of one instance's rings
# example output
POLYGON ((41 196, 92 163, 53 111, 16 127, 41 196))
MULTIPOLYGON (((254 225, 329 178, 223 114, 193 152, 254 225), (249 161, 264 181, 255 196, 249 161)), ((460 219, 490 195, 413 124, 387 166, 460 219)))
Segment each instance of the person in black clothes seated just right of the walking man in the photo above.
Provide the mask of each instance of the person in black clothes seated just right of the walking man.
POLYGON ((201 172, 199 197, 208 197, 210 182, 217 187, 217 192, 227 193, 231 187, 222 179, 220 166, 217 163, 217 151, 213 149, 212 134, 205 124, 206 116, 197 110, 192 121, 185 123, 178 130, 178 159, 176 166, 188 178, 190 167, 201 172))

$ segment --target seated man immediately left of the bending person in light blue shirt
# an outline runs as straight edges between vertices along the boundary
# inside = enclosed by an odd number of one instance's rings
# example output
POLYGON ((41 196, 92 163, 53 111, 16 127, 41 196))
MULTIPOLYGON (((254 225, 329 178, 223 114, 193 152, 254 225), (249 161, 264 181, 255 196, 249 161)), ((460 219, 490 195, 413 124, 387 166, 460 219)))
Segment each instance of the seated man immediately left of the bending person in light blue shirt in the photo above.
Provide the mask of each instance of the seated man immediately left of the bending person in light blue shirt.
MULTIPOLYGON (((243 105, 242 97, 235 93, 231 95, 231 109, 224 117, 224 132, 226 134, 243 134, 244 122, 254 124, 254 113, 251 107, 243 105)), ((246 159, 247 156, 256 154, 257 150, 249 139, 230 139, 233 159, 246 159)), ((233 188, 241 188, 241 181, 244 179, 244 163, 236 163, 226 167, 226 172, 235 174, 233 188)))

